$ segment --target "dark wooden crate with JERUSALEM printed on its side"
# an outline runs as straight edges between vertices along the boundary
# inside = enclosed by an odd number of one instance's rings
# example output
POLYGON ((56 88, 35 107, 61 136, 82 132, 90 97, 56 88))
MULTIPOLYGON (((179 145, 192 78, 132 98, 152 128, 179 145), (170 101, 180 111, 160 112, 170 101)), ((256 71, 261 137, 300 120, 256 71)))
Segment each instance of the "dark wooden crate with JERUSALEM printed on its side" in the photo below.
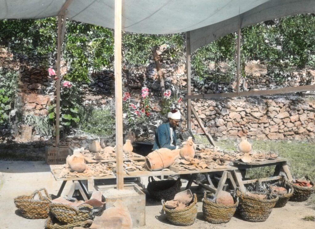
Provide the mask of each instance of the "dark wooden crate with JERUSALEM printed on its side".
POLYGON ((45 147, 45 161, 49 165, 65 164, 68 155, 68 147, 45 147))

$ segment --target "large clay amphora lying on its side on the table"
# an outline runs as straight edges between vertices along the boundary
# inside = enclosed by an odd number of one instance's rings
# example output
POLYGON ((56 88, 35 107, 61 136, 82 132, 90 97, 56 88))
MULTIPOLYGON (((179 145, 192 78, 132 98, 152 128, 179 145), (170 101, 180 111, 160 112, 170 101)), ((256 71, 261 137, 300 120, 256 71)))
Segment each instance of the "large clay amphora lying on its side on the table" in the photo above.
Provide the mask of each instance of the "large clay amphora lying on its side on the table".
POLYGON ((146 156, 146 166, 150 171, 169 167, 178 155, 173 150, 161 148, 146 156))

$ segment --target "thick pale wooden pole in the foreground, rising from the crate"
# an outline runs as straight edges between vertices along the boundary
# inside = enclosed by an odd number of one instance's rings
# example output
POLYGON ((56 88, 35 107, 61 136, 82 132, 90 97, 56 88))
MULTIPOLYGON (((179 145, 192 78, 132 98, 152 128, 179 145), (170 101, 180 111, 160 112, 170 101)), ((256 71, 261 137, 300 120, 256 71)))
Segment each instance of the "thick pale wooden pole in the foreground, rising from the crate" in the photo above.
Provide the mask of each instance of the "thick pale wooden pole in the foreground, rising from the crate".
POLYGON ((117 189, 123 189, 123 89, 121 70, 122 0, 115 0, 115 109, 117 189))

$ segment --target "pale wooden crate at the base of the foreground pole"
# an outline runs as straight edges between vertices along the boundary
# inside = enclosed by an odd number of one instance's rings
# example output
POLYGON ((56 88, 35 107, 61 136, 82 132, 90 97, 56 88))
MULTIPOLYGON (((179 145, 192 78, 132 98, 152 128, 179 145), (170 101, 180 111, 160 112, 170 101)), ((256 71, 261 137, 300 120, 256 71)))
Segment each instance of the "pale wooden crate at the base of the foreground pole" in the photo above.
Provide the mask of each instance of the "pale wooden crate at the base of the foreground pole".
POLYGON ((117 199, 123 201, 124 205, 128 208, 132 219, 133 227, 146 225, 146 194, 140 190, 140 187, 135 185, 133 188, 139 195, 126 196, 126 197, 116 197, 116 198, 106 198, 106 209, 113 207, 113 204, 117 199))

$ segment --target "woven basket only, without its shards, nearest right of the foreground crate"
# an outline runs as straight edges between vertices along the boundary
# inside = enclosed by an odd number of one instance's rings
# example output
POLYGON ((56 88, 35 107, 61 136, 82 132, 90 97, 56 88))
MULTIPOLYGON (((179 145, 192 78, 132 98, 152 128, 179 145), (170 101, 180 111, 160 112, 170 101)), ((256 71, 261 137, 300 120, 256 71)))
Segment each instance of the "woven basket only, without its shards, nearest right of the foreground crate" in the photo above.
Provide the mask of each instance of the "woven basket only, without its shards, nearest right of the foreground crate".
POLYGON ((174 225, 189 226, 192 225, 197 217, 197 196, 194 194, 192 203, 184 209, 169 209, 165 207, 164 200, 162 200, 163 210, 166 218, 174 225))

